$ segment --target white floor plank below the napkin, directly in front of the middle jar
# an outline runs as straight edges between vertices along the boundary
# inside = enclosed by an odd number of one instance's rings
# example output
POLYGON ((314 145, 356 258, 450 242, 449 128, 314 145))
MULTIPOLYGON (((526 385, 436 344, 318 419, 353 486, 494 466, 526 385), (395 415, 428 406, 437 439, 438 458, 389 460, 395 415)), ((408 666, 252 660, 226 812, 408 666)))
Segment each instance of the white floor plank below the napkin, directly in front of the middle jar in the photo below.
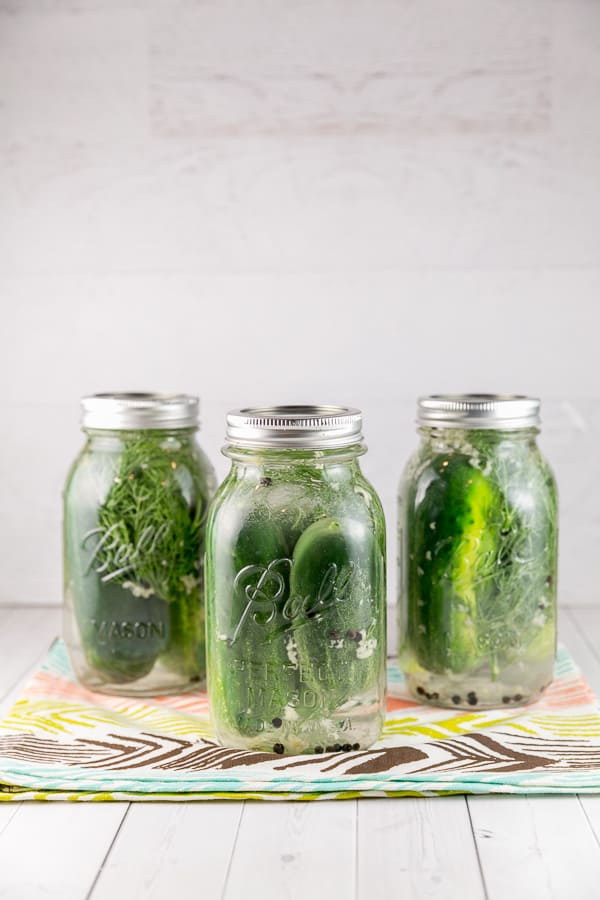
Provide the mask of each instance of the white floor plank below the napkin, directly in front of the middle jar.
POLYGON ((246 803, 226 900, 354 897, 357 803, 246 803))

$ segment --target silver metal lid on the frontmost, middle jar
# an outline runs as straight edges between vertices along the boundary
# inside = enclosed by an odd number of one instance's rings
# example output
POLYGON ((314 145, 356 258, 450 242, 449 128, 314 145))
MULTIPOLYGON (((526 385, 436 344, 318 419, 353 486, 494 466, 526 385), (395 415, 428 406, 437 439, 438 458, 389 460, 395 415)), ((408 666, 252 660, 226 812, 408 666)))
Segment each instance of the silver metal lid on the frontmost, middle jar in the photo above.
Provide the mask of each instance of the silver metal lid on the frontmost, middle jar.
POLYGON ((259 406, 227 415, 228 446, 325 449, 362 439, 362 413, 348 406, 259 406))

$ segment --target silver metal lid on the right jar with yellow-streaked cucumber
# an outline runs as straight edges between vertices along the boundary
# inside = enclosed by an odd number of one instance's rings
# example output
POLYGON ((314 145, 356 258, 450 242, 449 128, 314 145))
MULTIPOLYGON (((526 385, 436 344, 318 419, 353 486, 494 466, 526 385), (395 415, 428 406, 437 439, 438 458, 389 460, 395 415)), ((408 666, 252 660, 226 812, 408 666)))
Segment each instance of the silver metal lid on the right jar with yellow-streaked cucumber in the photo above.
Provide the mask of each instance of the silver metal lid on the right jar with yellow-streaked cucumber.
POLYGON ((520 394, 432 394, 419 397, 417 422, 438 428, 536 428, 540 401, 520 394))

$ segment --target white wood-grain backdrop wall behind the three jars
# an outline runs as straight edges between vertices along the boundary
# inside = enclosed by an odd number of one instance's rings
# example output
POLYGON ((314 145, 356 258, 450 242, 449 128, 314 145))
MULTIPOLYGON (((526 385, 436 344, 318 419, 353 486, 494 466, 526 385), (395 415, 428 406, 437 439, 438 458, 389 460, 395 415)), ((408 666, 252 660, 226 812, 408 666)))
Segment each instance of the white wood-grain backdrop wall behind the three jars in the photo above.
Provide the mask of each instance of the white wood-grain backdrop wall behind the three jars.
POLYGON ((362 406, 394 582, 413 402, 544 399, 600 576, 597 0, 0 0, 0 603, 60 600, 78 397, 362 406))

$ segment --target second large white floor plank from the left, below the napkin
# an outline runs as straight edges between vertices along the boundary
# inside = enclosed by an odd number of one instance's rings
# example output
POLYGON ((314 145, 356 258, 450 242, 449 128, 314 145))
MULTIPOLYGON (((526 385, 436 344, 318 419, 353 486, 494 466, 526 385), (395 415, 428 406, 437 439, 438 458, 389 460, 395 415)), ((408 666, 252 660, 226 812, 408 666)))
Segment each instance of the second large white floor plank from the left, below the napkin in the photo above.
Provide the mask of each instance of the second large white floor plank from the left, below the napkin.
POLYGON ((139 803, 111 848, 90 896, 196 900, 220 897, 243 804, 139 803))

